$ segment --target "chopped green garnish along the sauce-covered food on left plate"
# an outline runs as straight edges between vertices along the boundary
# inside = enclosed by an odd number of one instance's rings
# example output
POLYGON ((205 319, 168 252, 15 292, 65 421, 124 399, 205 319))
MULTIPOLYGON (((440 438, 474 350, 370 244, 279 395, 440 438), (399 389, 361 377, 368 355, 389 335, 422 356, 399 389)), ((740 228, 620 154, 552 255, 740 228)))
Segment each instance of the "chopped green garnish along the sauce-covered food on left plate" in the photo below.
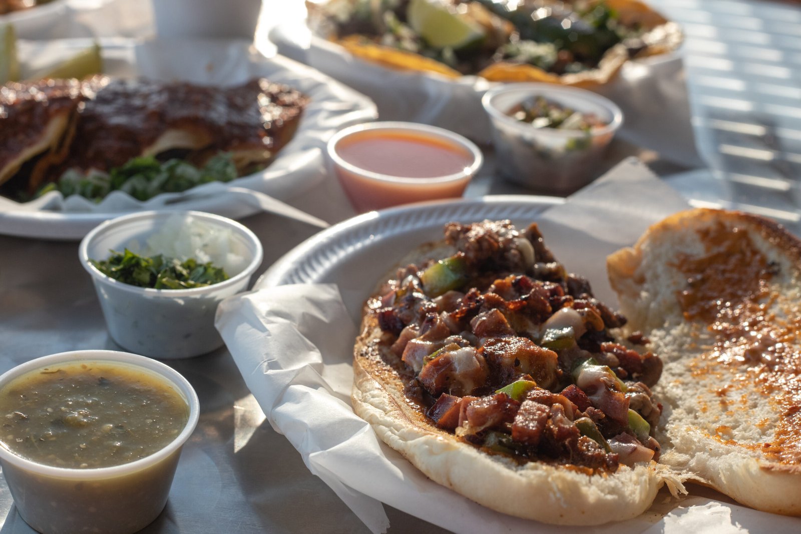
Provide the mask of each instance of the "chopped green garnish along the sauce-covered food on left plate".
POLYGON ((131 159, 123 167, 115 167, 107 174, 91 171, 83 175, 70 169, 58 182, 42 187, 36 196, 49 191, 61 191, 65 197, 80 195, 99 202, 111 191, 125 191, 137 200, 148 200, 160 193, 179 193, 209 182, 230 182, 237 177, 230 154, 220 153, 209 159, 201 168, 182 159, 164 163, 152 156, 131 159))

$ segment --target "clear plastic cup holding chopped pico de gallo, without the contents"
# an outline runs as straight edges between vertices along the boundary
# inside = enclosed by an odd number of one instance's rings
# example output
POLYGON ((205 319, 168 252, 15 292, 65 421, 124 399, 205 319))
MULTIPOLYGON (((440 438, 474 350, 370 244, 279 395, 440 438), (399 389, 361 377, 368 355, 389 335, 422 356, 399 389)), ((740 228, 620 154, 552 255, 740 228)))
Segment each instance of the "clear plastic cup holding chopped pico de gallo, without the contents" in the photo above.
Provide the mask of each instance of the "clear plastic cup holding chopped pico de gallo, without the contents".
POLYGON ((588 90, 549 83, 509 83, 481 99, 492 124, 501 175, 537 192, 568 194, 598 176, 598 162, 623 122, 620 108, 588 90), (509 116, 521 102, 541 96, 584 114, 595 114, 606 126, 582 130, 537 128, 509 116))

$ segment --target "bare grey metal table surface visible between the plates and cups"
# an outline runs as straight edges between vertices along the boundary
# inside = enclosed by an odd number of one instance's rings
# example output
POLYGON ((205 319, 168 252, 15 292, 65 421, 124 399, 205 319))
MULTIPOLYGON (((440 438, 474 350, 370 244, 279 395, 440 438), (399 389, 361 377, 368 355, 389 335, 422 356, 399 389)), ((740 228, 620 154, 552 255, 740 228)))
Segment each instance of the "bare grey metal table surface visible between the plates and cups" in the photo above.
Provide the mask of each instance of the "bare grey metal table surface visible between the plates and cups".
MULTIPOLYGON (((654 4, 685 25, 696 133, 700 128, 702 154, 713 167, 671 183, 697 203, 799 223, 801 9, 753 0, 654 4)), ((634 153, 618 143, 609 162, 634 153)), ((644 156, 659 174, 687 171, 644 156)), ((492 175, 489 166, 468 195, 517 192, 492 175)), ((331 222, 350 215, 331 180, 293 203, 331 222)), ((264 244, 257 275, 315 232, 268 214, 242 222, 264 244)), ((119 349, 107 334, 77 250, 77 243, 0 236, 0 372, 58 351, 119 349)), ((368 532, 264 420, 224 348, 168 364, 198 391, 201 417, 167 508, 143 532, 368 532)), ((389 532, 445 532, 385 508, 389 532)), ((2 482, 0 522, 0 534, 33 532, 2 482)))

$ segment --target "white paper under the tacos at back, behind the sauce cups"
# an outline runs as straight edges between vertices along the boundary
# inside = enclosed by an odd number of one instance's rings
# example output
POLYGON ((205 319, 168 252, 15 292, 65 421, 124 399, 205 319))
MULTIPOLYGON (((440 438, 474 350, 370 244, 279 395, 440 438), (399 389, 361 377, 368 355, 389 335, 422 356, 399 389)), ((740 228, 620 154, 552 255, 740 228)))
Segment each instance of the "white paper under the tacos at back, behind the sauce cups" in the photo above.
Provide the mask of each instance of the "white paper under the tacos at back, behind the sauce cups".
MULTIPOLYGON (((368 95, 376 102, 381 120, 425 122, 477 143, 491 142, 481 97, 497 83, 477 76, 453 80, 373 64, 312 35, 304 21, 284 20, 269 36, 281 54, 368 95)), ((620 138, 657 151, 674 163, 706 167, 695 148, 681 54, 626 62, 610 83, 594 90, 620 106, 624 119, 620 138)))

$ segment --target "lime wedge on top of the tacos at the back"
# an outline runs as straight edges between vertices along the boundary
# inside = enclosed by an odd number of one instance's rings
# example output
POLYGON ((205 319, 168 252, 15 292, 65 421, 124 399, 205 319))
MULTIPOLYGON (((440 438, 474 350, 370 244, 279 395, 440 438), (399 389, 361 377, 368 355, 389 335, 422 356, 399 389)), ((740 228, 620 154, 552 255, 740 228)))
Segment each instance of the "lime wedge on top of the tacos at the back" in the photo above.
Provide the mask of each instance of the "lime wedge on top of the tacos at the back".
POLYGON ((406 12, 409 26, 434 48, 460 50, 484 38, 481 26, 437 0, 412 0, 406 12))

